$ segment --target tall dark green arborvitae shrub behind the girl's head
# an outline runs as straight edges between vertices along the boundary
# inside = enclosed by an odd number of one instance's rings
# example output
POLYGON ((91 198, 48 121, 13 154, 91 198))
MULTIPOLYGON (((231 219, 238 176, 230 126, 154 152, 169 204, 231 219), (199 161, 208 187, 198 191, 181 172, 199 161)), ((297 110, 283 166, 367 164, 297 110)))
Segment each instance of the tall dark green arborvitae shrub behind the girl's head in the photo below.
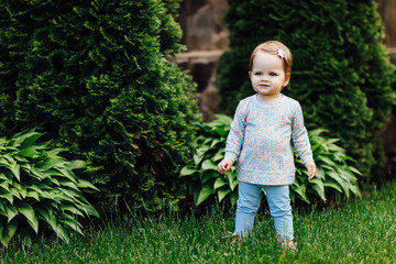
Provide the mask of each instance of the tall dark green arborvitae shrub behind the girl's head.
POLYGON ((306 125, 328 129, 365 176, 383 164, 377 132, 394 103, 394 67, 382 45, 383 25, 372 0, 229 1, 230 51, 218 67, 221 106, 233 114, 253 95, 248 72, 253 48, 278 40, 292 51, 284 92, 300 101, 306 125))

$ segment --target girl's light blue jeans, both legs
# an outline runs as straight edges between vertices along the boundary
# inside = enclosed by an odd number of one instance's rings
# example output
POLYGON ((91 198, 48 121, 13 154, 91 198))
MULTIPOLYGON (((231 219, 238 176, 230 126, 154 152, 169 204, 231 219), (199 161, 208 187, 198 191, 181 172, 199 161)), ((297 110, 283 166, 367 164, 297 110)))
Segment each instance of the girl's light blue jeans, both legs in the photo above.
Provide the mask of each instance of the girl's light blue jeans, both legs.
POLYGON ((276 233, 280 234, 283 239, 293 240, 293 215, 288 185, 268 186, 239 182, 235 233, 243 235, 252 232, 262 188, 265 190, 270 212, 274 218, 276 233))

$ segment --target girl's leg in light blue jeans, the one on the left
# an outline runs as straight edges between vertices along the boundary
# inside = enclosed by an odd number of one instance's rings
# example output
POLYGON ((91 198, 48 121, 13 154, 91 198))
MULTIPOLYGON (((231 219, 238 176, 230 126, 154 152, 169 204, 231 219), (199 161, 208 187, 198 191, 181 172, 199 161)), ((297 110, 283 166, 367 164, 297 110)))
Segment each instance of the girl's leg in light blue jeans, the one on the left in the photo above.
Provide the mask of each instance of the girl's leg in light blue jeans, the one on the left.
POLYGON ((258 186, 239 182, 235 233, 244 235, 252 231, 254 217, 258 209, 260 193, 258 186))

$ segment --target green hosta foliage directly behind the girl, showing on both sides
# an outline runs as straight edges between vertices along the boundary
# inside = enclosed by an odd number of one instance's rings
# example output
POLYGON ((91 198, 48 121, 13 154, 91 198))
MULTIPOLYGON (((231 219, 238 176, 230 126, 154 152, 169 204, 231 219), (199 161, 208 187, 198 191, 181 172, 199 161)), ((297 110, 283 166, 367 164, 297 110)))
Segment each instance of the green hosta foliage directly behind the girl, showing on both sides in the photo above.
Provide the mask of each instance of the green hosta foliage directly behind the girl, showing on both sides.
MULTIPOLYGON (((199 206, 211 195, 219 202, 228 200, 234 205, 238 199, 238 180, 234 166, 221 175, 217 172, 217 164, 224 156, 227 136, 232 119, 224 114, 216 114, 216 120, 208 123, 199 122, 197 151, 193 161, 186 165, 180 177, 188 177, 189 189, 195 195, 195 204, 199 206), (228 198, 228 199, 227 199, 228 198)), ((350 198, 360 196, 356 175, 360 172, 348 162, 354 161, 345 155, 345 150, 338 146, 337 139, 321 135, 324 130, 317 129, 309 132, 309 140, 317 165, 316 177, 308 182, 308 172, 295 152, 296 180, 290 185, 290 199, 310 202, 314 199, 327 201, 328 196, 350 198)))

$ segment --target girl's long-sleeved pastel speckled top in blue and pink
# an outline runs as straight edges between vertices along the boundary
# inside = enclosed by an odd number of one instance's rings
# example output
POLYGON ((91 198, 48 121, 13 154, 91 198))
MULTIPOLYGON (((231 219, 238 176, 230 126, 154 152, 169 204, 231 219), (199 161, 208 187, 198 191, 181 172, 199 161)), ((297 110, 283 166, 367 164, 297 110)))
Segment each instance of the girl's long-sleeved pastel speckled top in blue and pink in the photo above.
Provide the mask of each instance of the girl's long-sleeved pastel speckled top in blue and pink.
POLYGON ((238 180, 293 184, 293 145, 304 164, 314 161, 298 101, 285 95, 276 102, 261 101, 257 95, 240 101, 226 145, 226 158, 238 158, 238 180))

